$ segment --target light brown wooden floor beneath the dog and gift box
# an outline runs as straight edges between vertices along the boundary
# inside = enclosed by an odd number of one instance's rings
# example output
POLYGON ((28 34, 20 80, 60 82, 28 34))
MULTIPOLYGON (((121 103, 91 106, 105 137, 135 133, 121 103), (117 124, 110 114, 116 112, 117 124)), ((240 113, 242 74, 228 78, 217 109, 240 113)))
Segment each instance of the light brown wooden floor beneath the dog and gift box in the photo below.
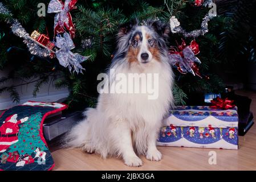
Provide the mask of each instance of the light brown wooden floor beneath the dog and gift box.
MULTIPOLYGON (((256 117, 256 92, 240 91, 237 94, 250 97, 251 111, 256 117)), ((158 147, 162 153, 160 162, 151 162, 140 156, 143 166, 131 168, 123 160, 101 159, 96 154, 76 150, 51 148, 55 160, 54 170, 256 170, 256 124, 245 137, 239 137, 239 150, 214 150, 205 148, 158 147), (216 151, 217 164, 208 163, 208 154, 216 151)))

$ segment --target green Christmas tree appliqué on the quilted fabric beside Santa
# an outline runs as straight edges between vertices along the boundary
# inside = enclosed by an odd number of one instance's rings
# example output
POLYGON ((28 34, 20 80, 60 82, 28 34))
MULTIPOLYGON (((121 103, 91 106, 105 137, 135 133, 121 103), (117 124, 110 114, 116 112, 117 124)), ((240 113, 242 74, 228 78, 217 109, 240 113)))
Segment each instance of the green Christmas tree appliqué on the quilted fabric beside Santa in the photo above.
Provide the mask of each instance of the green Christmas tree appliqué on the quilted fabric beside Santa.
POLYGON ((20 155, 31 155, 36 148, 47 150, 45 144, 40 139, 40 123, 42 114, 40 112, 31 115, 28 121, 19 126, 18 142, 11 145, 8 152, 18 151, 20 155))

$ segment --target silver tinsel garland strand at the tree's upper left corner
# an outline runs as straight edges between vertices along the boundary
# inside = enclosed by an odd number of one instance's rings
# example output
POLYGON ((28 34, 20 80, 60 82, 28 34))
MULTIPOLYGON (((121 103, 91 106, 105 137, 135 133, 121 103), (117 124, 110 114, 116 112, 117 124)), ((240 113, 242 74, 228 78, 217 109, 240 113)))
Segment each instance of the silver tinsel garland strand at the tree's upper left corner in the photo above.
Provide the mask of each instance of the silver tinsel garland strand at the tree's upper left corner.
MULTIPOLYGON (((0 2, 0 14, 6 14, 11 15, 10 11, 6 9, 6 7, 3 5, 3 3, 0 2)), ((29 49, 30 53, 36 56, 40 57, 49 57, 50 56, 50 49, 43 48, 39 46, 35 41, 33 41, 30 38, 30 35, 27 33, 25 28, 22 27, 21 23, 18 22, 17 19, 11 18, 6 19, 6 23, 10 24, 11 31, 14 35, 19 36, 23 39, 23 43, 27 45, 27 48, 29 49)))

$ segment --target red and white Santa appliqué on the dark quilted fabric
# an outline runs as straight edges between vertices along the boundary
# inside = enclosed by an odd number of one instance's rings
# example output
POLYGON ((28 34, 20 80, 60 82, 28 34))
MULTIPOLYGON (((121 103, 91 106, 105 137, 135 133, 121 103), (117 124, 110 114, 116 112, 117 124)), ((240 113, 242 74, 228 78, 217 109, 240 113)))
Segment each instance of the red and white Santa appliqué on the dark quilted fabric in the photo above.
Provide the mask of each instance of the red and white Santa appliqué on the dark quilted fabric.
POLYGON ((5 152, 12 144, 18 142, 18 125, 29 119, 29 117, 25 117, 17 121, 17 117, 17 114, 10 115, 0 127, 0 153, 5 152))

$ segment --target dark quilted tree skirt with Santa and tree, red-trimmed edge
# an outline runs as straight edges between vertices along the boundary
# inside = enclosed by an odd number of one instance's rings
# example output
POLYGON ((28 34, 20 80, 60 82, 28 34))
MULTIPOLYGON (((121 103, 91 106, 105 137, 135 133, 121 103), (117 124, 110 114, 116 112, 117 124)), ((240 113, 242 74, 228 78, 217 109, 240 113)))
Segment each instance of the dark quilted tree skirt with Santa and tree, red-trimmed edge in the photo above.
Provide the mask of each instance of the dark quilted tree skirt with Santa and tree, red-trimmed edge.
POLYGON ((0 117, 0 170, 46 171, 54 160, 43 137, 43 121, 67 105, 29 101, 0 117))

